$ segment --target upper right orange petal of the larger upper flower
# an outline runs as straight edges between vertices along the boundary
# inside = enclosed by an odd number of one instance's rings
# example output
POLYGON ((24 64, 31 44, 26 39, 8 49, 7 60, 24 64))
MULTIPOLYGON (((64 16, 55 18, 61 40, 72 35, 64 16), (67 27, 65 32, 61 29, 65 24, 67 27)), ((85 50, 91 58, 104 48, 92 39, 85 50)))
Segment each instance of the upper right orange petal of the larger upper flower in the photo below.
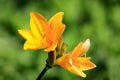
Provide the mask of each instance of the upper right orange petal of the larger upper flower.
POLYGON ((64 15, 64 12, 59 12, 49 20, 49 26, 51 29, 54 29, 55 27, 57 27, 56 24, 62 23, 63 15, 64 15))

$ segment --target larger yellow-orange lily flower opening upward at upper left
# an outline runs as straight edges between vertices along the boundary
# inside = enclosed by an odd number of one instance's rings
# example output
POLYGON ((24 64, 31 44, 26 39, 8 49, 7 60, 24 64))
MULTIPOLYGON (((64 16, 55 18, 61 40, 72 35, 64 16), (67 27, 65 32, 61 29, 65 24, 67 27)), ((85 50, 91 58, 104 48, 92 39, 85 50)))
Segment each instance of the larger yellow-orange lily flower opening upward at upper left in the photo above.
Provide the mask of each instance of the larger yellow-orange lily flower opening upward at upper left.
POLYGON ((24 50, 54 50, 65 29, 62 23, 63 15, 63 12, 59 12, 47 22, 41 14, 31 12, 31 30, 18 30, 19 34, 26 39, 24 50))

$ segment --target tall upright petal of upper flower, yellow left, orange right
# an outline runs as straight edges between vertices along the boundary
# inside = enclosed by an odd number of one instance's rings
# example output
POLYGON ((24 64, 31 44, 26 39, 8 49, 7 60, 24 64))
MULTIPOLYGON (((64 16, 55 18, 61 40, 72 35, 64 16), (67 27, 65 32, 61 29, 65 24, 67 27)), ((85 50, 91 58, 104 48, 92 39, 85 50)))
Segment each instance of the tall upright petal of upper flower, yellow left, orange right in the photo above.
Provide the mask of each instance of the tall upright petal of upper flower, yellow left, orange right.
POLYGON ((31 16, 30 26, 31 26, 32 33, 38 40, 40 40, 45 36, 45 33, 49 31, 47 21, 42 15, 36 12, 31 12, 30 16, 31 16))

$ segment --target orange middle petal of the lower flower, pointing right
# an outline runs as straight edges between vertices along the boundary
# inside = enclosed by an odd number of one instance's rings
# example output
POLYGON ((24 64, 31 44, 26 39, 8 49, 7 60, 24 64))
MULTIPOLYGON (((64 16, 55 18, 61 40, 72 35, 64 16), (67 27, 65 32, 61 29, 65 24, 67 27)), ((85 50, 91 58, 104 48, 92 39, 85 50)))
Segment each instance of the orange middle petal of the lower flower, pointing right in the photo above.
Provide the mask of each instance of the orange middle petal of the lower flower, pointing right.
POLYGON ((89 70, 96 67, 96 65, 90 61, 90 58, 74 57, 72 58, 72 64, 79 70, 89 70))

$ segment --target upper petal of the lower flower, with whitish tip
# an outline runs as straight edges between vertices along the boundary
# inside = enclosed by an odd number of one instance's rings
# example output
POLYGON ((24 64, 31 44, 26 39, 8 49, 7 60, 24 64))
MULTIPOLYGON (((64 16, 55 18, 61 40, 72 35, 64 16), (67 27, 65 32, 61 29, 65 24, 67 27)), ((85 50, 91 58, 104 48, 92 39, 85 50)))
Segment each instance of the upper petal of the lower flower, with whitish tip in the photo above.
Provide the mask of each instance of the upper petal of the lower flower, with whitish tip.
POLYGON ((72 52, 72 57, 83 56, 90 47, 90 40, 87 39, 84 43, 79 43, 72 52))

